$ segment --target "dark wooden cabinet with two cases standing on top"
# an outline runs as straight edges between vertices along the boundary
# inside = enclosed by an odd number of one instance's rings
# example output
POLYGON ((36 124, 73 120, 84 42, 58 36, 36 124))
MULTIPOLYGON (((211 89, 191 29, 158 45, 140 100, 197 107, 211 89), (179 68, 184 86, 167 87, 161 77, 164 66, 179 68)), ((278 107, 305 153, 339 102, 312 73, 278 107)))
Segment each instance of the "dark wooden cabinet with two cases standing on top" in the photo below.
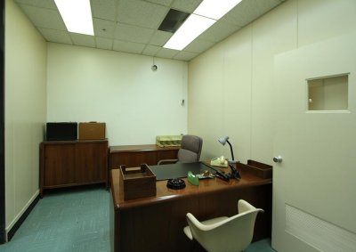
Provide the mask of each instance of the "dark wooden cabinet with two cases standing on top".
POLYGON ((41 197, 46 189, 91 183, 108 186, 108 140, 41 142, 41 197))

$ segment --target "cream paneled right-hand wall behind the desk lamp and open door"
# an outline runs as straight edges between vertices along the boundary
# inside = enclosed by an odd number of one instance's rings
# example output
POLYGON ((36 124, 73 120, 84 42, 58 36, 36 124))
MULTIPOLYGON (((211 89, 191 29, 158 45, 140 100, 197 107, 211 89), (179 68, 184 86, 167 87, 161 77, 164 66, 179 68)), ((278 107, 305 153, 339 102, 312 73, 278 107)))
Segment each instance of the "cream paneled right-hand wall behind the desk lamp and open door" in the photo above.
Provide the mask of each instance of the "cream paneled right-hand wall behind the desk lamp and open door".
POLYGON ((288 0, 189 63, 188 132, 203 137, 202 159, 272 164, 274 56, 356 30, 355 1, 288 0))

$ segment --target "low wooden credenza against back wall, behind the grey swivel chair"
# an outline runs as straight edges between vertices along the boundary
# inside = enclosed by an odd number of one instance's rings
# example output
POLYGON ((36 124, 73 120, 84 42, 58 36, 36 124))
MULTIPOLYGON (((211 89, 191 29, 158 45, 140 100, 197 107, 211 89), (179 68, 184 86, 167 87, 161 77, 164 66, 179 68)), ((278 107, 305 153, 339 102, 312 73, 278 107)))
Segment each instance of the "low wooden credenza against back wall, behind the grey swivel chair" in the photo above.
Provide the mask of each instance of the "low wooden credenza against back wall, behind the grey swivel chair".
POLYGON ((157 165, 161 159, 177 159, 180 147, 159 147, 156 144, 121 145, 109 147, 109 169, 126 167, 140 167, 146 163, 157 165))

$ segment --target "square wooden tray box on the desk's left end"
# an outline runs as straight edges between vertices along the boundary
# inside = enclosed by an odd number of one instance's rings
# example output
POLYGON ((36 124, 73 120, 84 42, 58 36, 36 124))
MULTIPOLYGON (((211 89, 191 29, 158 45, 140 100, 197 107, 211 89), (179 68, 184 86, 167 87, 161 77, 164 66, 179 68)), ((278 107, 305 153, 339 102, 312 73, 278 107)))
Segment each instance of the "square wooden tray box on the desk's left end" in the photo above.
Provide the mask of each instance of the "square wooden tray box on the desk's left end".
POLYGON ((149 166, 142 164, 130 169, 120 166, 120 171, 120 190, 124 191, 125 200, 156 196, 156 175, 149 166))

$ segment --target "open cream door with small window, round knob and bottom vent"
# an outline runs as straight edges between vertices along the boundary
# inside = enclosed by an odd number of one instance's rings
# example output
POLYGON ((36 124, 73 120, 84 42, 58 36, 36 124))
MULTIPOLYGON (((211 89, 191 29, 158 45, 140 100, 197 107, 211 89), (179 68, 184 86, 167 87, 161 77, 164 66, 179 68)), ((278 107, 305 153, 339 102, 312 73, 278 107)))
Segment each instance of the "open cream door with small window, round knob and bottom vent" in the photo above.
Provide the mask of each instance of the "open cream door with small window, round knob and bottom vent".
POLYGON ((355 45, 350 34, 275 57, 273 152, 282 161, 273 169, 272 247, 279 252, 355 251, 355 45), (341 99, 346 108, 308 110, 307 83, 340 76, 346 95, 331 92, 324 102, 341 99))

